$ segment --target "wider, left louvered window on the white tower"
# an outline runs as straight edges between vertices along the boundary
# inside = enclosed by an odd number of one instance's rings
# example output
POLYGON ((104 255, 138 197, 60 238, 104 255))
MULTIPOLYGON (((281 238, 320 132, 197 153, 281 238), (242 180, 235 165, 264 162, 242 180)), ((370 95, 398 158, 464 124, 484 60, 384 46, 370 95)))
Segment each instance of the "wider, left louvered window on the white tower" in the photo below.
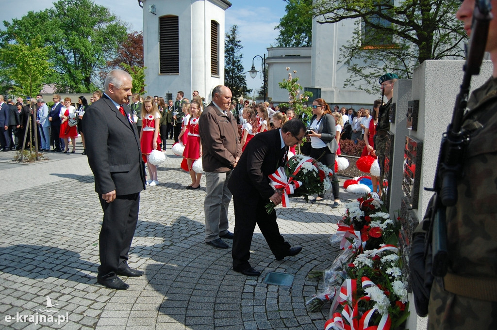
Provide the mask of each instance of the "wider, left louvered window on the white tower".
POLYGON ((178 16, 159 18, 160 73, 179 73, 178 16))

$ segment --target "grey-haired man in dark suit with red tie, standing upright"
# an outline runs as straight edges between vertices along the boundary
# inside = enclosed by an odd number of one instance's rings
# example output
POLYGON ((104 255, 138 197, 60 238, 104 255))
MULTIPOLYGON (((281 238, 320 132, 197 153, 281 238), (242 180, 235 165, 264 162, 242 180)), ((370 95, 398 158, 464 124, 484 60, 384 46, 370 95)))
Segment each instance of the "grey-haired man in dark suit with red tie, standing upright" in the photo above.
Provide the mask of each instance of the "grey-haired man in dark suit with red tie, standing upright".
POLYGON ((117 290, 129 288, 117 275, 143 275, 128 265, 140 192, 145 189, 140 139, 126 105, 132 95, 132 80, 126 71, 110 71, 105 78, 105 94, 88 107, 83 126, 88 164, 103 209, 97 281, 117 290))

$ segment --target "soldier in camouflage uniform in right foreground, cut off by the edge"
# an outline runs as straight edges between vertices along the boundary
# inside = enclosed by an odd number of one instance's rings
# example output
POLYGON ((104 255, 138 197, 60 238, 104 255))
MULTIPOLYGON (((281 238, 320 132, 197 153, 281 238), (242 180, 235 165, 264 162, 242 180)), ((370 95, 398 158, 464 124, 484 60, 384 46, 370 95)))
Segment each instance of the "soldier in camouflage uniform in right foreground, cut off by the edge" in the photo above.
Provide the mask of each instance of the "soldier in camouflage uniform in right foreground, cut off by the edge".
MULTIPOLYGON (((456 16, 470 32, 475 0, 456 16)), ((468 102, 463 129, 471 133, 458 180, 458 201, 447 208, 447 275, 435 278, 428 330, 497 329, 497 0, 492 0, 486 50, 493 76, 468 102)))

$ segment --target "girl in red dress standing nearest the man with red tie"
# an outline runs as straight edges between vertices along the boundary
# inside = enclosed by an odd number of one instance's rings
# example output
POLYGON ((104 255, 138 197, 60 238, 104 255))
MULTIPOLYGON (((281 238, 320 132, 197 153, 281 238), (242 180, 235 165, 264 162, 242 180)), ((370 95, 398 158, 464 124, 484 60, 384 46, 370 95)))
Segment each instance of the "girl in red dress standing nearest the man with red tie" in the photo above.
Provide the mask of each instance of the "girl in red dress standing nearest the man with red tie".
POLYGON ((142 148, 143 161, 147 163, 150 179, 147 186, 157 186, 157 167, 151 164, 148 159, 152 150, 161 151, 161 136, 159 135, 159 123, 161 113, 152 96, 147 96, 142 104, 142 131, 140 132, 140 146, 142 148))

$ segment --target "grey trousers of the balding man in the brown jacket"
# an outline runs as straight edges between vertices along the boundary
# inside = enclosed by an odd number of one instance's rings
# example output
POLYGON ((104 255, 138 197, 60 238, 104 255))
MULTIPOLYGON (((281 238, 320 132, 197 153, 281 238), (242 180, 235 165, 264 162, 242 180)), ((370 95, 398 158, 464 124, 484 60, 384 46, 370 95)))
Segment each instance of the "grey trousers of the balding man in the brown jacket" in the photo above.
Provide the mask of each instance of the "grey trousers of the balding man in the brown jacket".
POLYGON ((226 173, 205 173, 207 195, 204 199, 205 241, 211 242, 228 232, 228 206, 231 192, 228 180, 231 171, 226 173))

